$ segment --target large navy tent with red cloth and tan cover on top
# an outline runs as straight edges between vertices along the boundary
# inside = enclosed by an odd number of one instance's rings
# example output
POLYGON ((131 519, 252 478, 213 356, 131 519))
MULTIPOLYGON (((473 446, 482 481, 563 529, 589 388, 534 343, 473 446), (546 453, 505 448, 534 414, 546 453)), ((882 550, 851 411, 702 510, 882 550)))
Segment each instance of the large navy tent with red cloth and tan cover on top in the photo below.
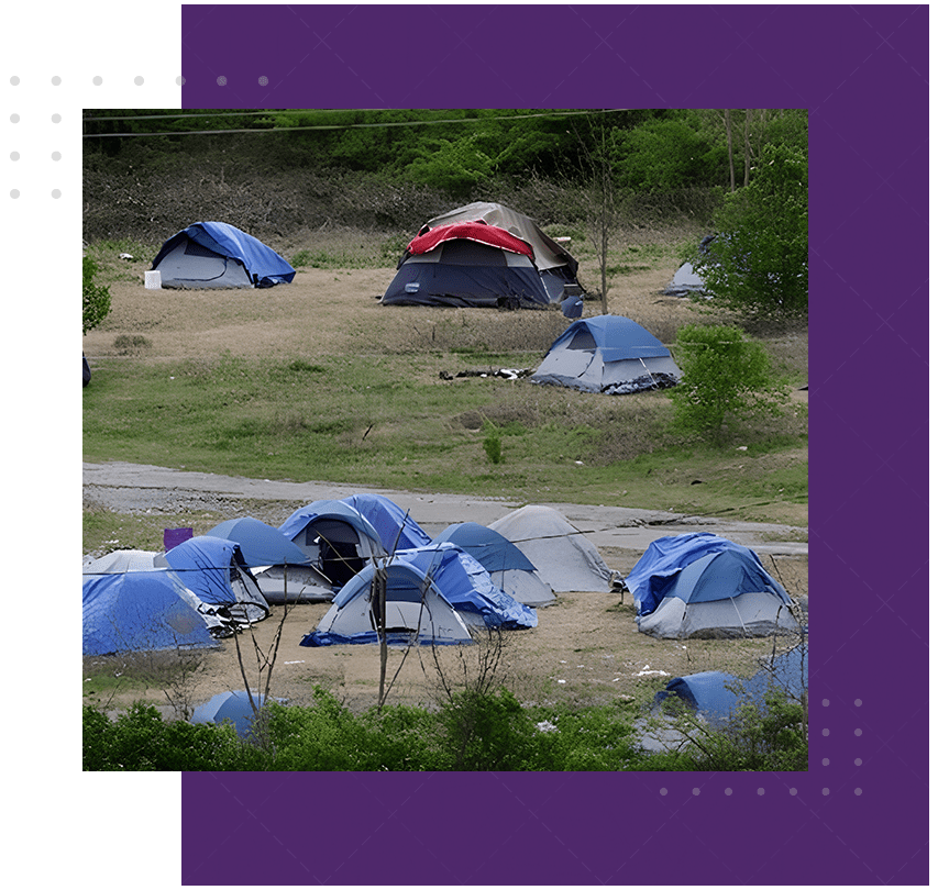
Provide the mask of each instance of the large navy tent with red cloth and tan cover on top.
POLYGON ((420 229, 382 303, 542 309, 583 293, 576 269, 532 219, 476 201, 420 229))

